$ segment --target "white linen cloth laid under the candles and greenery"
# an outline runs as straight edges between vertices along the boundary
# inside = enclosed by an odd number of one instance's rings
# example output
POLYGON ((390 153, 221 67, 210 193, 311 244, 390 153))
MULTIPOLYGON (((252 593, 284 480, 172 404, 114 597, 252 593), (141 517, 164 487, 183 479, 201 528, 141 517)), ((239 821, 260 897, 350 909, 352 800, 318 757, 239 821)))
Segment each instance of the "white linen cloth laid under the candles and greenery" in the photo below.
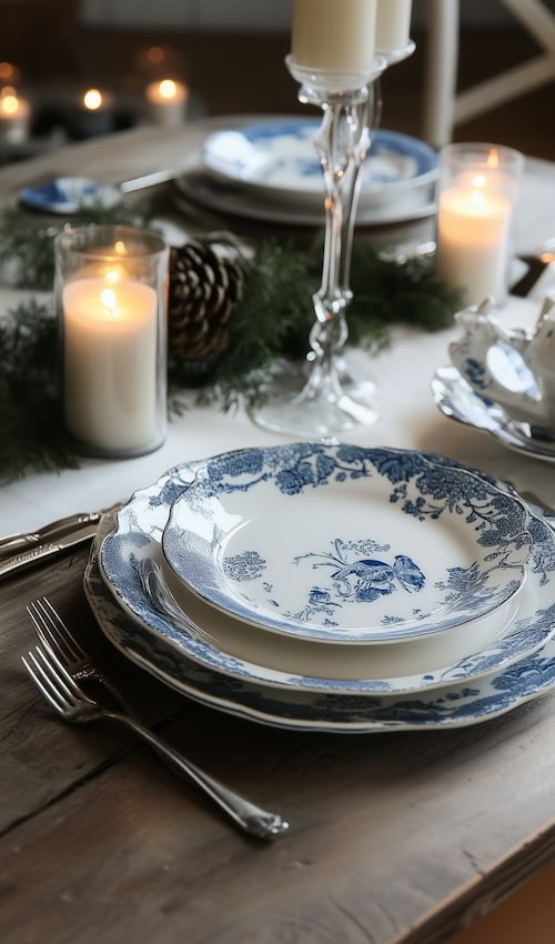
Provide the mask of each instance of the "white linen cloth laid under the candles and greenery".
MULTIPOLYGON (((178 172, 194 160, 208 130, 225 123, 225 119, 198 122, 189 129, 169 132, 140 129, 113 135, 109 141, 100 139, 67 148, 58 158, 49 154, 0 171, 0 195, 13 195, 23 183, 61 172, 112 180, 157 167, 178 172)), ((433 220, 418 224, 417 232, 423 238, 428 238, 431 231, 433 220)), ((534 252, 554 233, 555 164, 528 160, 516 225, 516 251, 534 252)), ((13 304, 18 294, 29 297, 29 292, 0 289, 0 313, 13 304)), ((537 311, 537 302, 511 298, 500 318, 509 327, 531 327, 537 311)), ((391 349, 373 361, 360 351, 353 352, 356 364, 370 371, 377 383, 381 418, 371 428, 357 428, 345 434, 344 441, 438 452, 493 475, 508 478, 516 488, 533 490, 555 504, 555 463, 516 454, 486 433, 444 418, 436 409, 430 383, 436 368, 448 363, 447 345, 457 334, 455 327, 438 333, 407 328, 395 330, 391 349)), ((4 485, 0 493, 0 533, 36 529, 63 514, 122 501, 179 462, 296 439, 253 425, 243 411, 225 414, 216 406, 195 405, 194 394, 188 399, 190 409, 170 422, 165 444, 150 455, 125 461, 83 459, 79 470, 28 474, 4 485)))

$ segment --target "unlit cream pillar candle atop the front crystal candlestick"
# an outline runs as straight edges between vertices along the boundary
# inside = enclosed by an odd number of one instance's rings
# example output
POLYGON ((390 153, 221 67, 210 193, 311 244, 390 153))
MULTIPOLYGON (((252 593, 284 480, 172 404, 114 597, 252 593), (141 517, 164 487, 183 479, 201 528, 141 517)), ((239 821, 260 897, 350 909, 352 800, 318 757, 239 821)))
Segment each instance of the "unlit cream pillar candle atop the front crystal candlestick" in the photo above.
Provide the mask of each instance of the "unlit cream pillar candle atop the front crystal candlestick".
POLYGON ((377 0, 293 0, 292 57, 323 72, 367 72, 377 0))

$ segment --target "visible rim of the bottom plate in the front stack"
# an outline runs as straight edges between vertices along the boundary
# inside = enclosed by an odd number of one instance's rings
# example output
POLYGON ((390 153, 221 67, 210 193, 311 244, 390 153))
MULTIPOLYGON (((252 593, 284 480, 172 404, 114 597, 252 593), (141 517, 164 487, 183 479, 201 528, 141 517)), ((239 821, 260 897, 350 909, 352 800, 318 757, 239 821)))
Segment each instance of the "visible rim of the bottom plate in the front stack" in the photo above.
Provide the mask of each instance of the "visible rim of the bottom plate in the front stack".
MULTIPOLYGON (((99 533, 99 540, 102 536, 99 533)), ((555 641, 549 635, 542 649, 504 671, 472 684, 447 684, 427 696, 275 690, 212 671, 189 659, 163 633, 131 620, 101 576, 98 545, 92 549, 84 585, 102 631, 131 661, 201 704, 272 726, 366 734, 461 727, 485 722, 555 689, 555 641)), ((555 605, 545 616, 553 631, 555 605)))

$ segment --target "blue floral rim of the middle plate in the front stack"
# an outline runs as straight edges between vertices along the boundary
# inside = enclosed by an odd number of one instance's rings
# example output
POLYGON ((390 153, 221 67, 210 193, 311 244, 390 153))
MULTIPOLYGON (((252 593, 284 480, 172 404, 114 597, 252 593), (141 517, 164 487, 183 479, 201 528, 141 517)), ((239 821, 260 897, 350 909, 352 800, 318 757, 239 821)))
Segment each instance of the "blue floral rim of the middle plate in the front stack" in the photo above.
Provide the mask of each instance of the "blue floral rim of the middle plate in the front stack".
MULTIPOLYGON (((435 462, 453 464, 452 460, 442 456, 431 458, 435 462)), ((233 462, 234 458, 229 454, 226 460, 233 462)), ((494 673, 492 677, 495 679, 503 677, 512 663, 523 659, 528 663, 529 657, 552 636, 555 627, 555 604, 553 604, 555 535, 544 521, 534 515, 532 518, 533 559, 525 586, 525 593, 529 591, 529 594, 523 597, 516 621, 506 633, 486 649, 474 652, 442 670, 410 677, 350 682, 319 679, 269 672, 264 666, 235 659, 215 645, 195 640, 180 630, 170 616, 157 610, 144 592, 134 564, 138 559, 157 556, 159 553, 158 542, 169 513, 169 503, 164 505, 161 495, 173 494, 174 490, 183 491, 204 466, 205 463, 202 462, 175 466, 164 473, 153 485, 137 492, 119 512, 115 530, 105 538, 99 554, 92 553, 85 579, 93 611, 107 634, 115 635, 113 640, 115 644, 129 651, 131 657, 133 657, 132 652, 139 652, 147 660, 145 667, 154 673, 167 675, 170 684, 191 690, 189 693, 193 697, 199 696, 209 703, 213 701, 218 704, 222 696, 224 701, 226 700, 223 705, 226 711, 245 713, 246 716, 251 716, 250 712, 251 709, 254 710, 254 702, 249 701, 245 706, 241 694, 244 692, 250 693, 249 699, 252 694, 254 701, 258 700, 255 693, 263 692, 264 705, 273 699, 276 710, 279 710, 280 699, 287 701, 293 691, 329 695, 336 693, 345 699, 363 696, 363 702, 367 705, 369 697, 374 695, 395 694, 398 697, 401 693, 415 693, 451 685, 453 687, 450 690, 450 701, 460 700, 462 684, 468 686, 472 683, 474 686, 476 680, 488 673, 494 673), (196 691, 196 685, 200 686, 200 692, 196 691), (280 693, 272 692, 272 686, 276 686, 280 693), (226 696, 224 693, 228 693, 226 696), (236 693, 236 704, 233 693, 236 693)), ((487 476, 484 476, 484 480, 490 484, 495 483, 495 480, 487 476)), ((503 483, 497 483, 497 488, 507 490, 503 483)), ((320 603, 324 605, 325 600, 320 597, 320 603)), ((555 646, 551 644, 547 652, 553 660, 555 646)), ((552 671, 551 679, 548 670, 546 673, 539 683, 538 692, 554 683, 555 670, 552 671)), ((526 689, 529 696, 534 692, 533 686, 526 689)), ((518 697, 518 692, 514 693, 514 699, 518 697)), ((434 701, 438 699, 443 699, 443 694, 434 695, 434 701)), ((507 707, 513 706, 514 699, 507 701, 507 707)), ((370 727, 374 730, 373 723, 370 727)))

